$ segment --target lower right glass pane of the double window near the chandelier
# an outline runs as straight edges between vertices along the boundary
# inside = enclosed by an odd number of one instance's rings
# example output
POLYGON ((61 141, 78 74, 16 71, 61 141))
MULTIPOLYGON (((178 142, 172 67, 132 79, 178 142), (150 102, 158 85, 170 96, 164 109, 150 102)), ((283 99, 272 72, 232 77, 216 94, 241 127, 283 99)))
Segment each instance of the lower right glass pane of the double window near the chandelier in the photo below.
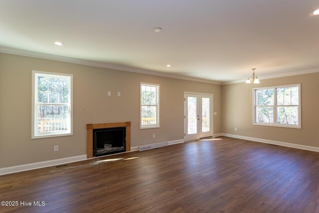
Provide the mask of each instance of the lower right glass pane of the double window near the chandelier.
POLYGON ((277 107, 277 123, 298 125, 298 107, 277 107))

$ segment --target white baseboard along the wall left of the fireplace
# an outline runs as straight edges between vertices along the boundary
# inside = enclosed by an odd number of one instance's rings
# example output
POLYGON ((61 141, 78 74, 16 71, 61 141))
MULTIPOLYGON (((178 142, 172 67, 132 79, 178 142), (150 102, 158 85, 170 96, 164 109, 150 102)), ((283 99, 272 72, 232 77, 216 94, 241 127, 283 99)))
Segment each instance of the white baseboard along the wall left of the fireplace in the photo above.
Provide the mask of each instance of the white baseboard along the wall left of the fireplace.
POLYGON ((6 175, 10 173, 16 173, 16 172, 22 172, 22 171, 27 171, 27 170, 34 170, 34 169, 40 169, 43 167, 51 167, 51 166, 56 166, 56 165, 61 165, 61 164, 68 164, 76 161, 83 161, 86 160, 86 155, 79 155, 79 156, 73 156, 69 158, 61 158, 61 159, 56 159, 56 160, 51 160, 51 161, 42 161, 42 162, 37 162, 37 163, 32 163, 32 164, 23 164, 19 166, 13 166, 13 167, 6 167, 6 168, 1 168, 0 169, 0 175, 6 175))

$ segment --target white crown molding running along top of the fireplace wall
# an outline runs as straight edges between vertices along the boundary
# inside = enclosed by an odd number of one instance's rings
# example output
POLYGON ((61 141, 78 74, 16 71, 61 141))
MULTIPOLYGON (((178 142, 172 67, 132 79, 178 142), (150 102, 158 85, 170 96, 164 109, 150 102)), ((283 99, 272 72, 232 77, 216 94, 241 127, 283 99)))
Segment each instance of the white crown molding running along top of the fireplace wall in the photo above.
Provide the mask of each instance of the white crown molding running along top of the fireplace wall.
POLYGON ((91 61, 91 60, 70 58, 70 57, 64 57, 64 56, 58 56, 58 55, 51 55, 51 54, 33 52, 33 51, 16 49, 16 48, 11 48, 11 47, 0 46, 0 52, 14 54, 14 55, 34 57, 34 58, 43 58, 43 59, 49 59, 49 60, 55 60, 55 61, 63 61, 63 62, 69 62, 69 63, 75 63, 75 64, 82 64, 82 65, 88 65, 88 66, 102 67, 102 68, 108 68, 108 69, 115 69, 115 70, 121 70, 121 71, 136 72, 136 73, 141 73, 141 74, 156 75, 156 76, 161 76, 161 77, 176 78, 176 79, 181 79, 181 80, 196 81, 196 82, 201 82, 201 83, 218 84, 218 85, 222 84, 222 82, 219 82, 219 81, 191 78, 191 77, 173 75, 173 74, 151 71, 151 70, 146 70, 146 69, 141 69, 141 68, 136 68, 136 67, 129 67, 129 66, 124 66, 124 65, 110 64, 110 63, 106 63, 106 62, 97 62, 97 61, 91 61))

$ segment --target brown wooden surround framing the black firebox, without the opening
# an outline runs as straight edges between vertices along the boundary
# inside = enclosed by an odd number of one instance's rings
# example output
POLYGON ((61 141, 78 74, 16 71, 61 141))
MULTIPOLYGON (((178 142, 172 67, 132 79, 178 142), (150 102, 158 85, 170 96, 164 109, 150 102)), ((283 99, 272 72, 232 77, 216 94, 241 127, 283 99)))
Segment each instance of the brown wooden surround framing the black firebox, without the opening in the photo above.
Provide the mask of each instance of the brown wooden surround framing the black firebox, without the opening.
MULTIPOLYGON (((100 124, 87 124, 87 158, 93 158, 93 130, 108 129, 108 128, 125 128, 125 152, 131 151, 131 122, 118 122, 118 123, 100 123, 100 124)), ((98 157, 98 156, 97 156, 98 157)))

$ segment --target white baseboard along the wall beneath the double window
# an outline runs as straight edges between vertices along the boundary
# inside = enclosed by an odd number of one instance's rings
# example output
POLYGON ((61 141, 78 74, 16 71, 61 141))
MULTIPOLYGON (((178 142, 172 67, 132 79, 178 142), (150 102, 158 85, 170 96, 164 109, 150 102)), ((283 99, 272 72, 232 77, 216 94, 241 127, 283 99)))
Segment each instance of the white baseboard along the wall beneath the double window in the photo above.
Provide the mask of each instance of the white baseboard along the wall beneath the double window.
POLYGON ((244 139, 244 140, 248 140, 248 141, 255 141, 255 142, 267 143, 267 144, 275 144, 275 145, 284 146, 284 147, 292 147, 292 148, 297 148, 297 149, 304 149, 304 150, 319 152, 319 147, 311 147, 311 146, 305 146, 305 145, 300 145, 300 144, 291 144, 291 143, 286 143, 286 142, 281 142, 281 141, 272 141, 272 140, 261 139, 261 138, 253 138, 253 137, 247 137, 247 136, 241 136, 241 135, 232 135, 232 134, 227 134, 227 133, 222 133, 221 135, 226 136, 226 137, 230 137, 230 138, 238 138, 238 139, 244 139))

